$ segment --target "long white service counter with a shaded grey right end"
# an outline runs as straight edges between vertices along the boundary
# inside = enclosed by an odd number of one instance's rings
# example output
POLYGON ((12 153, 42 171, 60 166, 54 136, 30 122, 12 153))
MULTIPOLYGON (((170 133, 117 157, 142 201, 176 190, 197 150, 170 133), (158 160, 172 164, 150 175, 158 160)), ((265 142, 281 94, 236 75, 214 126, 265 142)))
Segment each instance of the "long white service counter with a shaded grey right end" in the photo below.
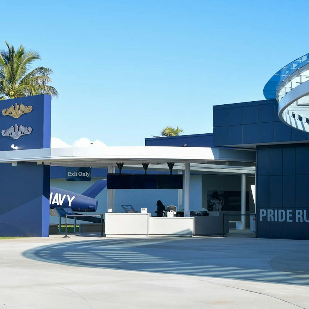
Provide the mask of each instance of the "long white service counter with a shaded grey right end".
MULTIPOLYGON (((106 237, 218 235, 222 215, 208 217, 151 217, 150 214, 106 213, 106 237)), ((228 220, 225 222, 228 232, 228 220)))

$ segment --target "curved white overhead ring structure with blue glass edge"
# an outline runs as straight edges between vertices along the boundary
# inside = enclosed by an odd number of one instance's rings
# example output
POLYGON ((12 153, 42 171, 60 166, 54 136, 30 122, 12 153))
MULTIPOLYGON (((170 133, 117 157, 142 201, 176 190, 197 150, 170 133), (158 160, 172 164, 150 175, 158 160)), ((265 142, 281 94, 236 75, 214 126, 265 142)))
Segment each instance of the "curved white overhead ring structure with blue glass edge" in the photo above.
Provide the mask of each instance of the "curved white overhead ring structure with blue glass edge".
POLYGON ((264 87, 266 99, 276 99, 282 122, 309 132, 309 53, 279 70, 264 87))

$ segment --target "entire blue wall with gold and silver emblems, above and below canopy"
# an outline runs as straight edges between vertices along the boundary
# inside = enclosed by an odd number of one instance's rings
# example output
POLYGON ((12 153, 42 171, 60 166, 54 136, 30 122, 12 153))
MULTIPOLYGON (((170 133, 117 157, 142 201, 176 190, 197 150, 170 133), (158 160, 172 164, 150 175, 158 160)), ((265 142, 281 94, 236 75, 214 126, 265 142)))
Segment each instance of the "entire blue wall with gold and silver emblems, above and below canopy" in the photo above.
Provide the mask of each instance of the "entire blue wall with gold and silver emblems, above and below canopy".
MULTIPOLYGON (((49 148, 51 123, 50 95, 36 95, 3 100, 0 109, 0 131, 11 126, 31 127, 32 132, 13 139, 0 135, 0 151, 49 148), (32 111, 19 118, 4 116, 3 109, 15 104, 32 106, 32 111)), ((0 164, 0 236, 48 236, 49 165, 36 163, 0 164)))

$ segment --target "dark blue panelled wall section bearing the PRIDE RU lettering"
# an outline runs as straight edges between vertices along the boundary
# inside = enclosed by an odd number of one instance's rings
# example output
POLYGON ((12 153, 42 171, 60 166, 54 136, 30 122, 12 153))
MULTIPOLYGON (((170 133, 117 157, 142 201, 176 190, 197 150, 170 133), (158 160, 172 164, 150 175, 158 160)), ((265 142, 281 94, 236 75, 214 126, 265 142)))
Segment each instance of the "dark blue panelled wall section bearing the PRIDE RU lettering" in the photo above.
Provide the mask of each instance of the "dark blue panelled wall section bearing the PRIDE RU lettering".
POLYGON ((309 144, 257 147, 257 237, 309 239, 308 159, 309 144))

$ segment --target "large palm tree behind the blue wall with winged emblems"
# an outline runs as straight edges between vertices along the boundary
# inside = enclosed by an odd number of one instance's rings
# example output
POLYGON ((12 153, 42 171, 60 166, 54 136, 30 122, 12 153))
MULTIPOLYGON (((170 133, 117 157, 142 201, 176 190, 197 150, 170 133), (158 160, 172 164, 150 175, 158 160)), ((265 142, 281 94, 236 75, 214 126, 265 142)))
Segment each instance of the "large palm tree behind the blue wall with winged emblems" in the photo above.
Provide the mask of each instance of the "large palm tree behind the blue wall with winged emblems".
POLYGON ((51 69, 40 66, 28 72, 31 63, 40 59, 39 54, 26 51, 22 45, 16 50, 5 43, 7 50, 0 51, 0 100, 40 94, 57 97, 58 91, 48 85, 51 69))

